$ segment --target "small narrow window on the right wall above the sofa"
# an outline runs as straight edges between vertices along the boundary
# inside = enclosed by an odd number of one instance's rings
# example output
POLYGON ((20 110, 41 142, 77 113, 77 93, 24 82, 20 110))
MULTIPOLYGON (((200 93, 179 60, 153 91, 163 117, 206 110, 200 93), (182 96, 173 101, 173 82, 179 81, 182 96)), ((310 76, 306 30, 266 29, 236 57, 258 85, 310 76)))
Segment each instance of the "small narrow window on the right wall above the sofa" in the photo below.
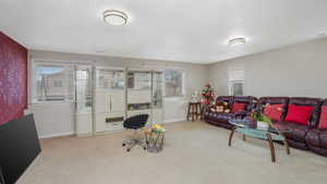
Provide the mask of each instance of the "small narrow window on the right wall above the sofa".
POLYGON ((243 95, 244 85, 244 64, 231 64, 228 68, 229 94, 232 96, 243 95))

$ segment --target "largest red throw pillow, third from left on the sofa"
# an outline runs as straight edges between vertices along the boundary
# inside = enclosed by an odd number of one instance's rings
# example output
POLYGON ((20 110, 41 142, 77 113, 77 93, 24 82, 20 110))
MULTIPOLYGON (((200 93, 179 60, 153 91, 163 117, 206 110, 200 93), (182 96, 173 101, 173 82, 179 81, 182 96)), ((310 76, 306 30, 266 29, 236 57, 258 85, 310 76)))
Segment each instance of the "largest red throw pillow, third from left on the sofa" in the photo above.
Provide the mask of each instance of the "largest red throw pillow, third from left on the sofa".
POLYGON ((311 106, 289 105, 288 115, 284 121, 308 125, 308 120, 314 110, 311 106))

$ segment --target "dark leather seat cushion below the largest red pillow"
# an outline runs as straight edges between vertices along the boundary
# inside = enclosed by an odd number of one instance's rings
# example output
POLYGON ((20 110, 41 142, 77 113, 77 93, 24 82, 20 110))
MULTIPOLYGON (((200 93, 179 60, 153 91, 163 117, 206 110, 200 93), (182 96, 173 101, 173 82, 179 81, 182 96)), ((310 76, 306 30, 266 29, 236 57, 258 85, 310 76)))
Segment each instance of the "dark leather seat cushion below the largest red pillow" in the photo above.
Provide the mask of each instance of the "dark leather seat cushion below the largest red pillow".
POLYGON ((290 122, 278 122, 275 126, 281 132, 284 132, 283 134, 287 139, 305 143, 305 135, 308 131, 308 126, 290 122))

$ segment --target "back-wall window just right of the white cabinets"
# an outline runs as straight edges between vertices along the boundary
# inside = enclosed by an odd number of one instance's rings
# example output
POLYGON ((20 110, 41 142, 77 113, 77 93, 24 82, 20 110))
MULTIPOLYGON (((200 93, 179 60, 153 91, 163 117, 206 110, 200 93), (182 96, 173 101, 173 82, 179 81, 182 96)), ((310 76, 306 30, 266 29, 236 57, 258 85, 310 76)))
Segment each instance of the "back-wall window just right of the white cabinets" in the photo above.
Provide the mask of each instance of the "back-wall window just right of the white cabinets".
POLYGON ((166 97, 183 96, 183 71, 165 70, 166 97))

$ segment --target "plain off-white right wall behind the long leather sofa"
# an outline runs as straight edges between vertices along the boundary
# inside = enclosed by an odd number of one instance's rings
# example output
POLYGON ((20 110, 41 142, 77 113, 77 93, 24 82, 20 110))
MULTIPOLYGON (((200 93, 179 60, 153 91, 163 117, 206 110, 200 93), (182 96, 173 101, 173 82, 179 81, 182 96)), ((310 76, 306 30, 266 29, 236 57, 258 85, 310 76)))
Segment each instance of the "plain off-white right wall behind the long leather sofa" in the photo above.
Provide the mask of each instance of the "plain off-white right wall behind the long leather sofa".
POLYGON ((244 95, 327 98, 327 39, 238 58, 209 65, 209 82, 228 95, 228 65, 244 63, 244 95))

